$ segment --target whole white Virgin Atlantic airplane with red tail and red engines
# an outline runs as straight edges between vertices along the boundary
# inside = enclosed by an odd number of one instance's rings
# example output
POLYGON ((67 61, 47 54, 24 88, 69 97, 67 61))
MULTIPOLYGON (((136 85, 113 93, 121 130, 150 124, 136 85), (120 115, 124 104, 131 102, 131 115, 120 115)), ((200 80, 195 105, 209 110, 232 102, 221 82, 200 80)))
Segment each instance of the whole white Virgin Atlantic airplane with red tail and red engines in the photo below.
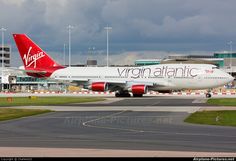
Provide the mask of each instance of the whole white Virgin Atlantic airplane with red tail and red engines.
MULTIPOLYGON (((148 91, 211 89, 232 82, 228 73, 210 64, 158 64, 140 67, 65 67, 25 34, 13 34, 29 76, 69 82, 116 97, 142 97, 148 91)), ((206 97, 211 97, 210 91, 206 97)))

